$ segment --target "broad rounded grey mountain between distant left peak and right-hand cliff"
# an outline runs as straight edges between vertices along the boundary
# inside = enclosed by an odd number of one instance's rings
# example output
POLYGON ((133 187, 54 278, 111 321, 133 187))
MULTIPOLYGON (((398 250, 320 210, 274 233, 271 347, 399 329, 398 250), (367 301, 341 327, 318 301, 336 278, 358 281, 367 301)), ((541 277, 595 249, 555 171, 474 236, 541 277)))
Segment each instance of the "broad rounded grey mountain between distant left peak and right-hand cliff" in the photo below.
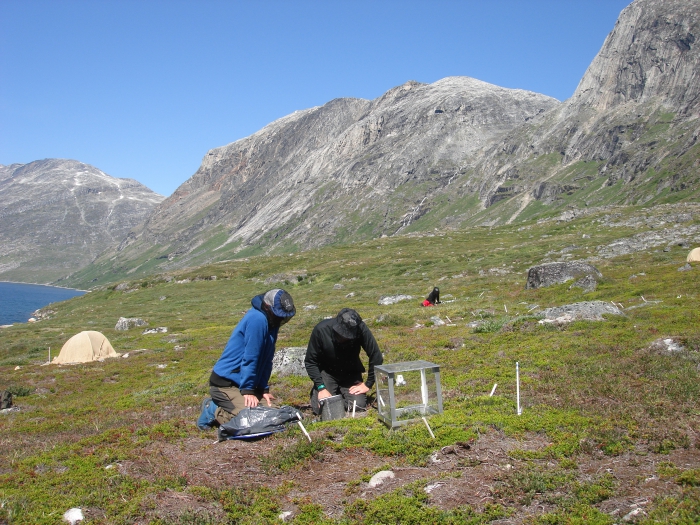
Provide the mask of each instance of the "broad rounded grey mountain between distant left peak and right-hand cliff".
POLYGON ((210 151, 121 250, 159 245, 177 265, 203 249, 230 256, 394 234, 421 188, 448 184, 464 158, 557 104, 453 77, 294 113, 210 151))

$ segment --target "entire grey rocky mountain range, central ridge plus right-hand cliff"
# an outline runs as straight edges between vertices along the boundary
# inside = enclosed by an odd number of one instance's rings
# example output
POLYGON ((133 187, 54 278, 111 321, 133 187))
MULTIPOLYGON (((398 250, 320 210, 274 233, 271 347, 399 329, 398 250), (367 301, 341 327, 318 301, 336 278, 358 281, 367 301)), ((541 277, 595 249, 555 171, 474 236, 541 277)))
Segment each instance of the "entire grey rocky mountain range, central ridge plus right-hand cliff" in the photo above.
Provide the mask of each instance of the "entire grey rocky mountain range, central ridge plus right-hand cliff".
POLYGON ((635 0, 563 103, 451 77, 296 112, 208 152, 81 278, 697 201, 699 23, 698 0, 635 0))

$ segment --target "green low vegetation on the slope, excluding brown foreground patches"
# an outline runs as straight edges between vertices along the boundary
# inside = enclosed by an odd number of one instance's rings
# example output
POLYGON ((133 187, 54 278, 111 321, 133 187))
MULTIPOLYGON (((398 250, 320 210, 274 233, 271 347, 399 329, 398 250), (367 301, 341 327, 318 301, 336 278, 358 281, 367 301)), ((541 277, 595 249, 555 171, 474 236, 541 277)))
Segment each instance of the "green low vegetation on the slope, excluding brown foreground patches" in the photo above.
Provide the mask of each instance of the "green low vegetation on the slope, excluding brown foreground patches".
MULTIPOLYGON (((504 515, 522 519, 520 505, 540 498, 553 510, 530 518, 532 522, 613 523, 597 505, 622 491, 621 483, 605 475, 580 481, 578 464, 601 453, 642 457, 700 448, 700 270, 678 272, 688 250, 676 247, 596 262, 604 279, 592 293, 569 290, 568 285, 525 290, 527 268, 545 254, 575 245, 573 258, 585 258, 597 246, 635 232, 603 227, 596 218, 386 238, 293 256, 222 262, 178 272, 171 282, 159 276, 134 281, 129 291, 96 290, 54 305, 56 314, 48 321, 3 329, 0 389, 13 390, 21 410, 0 419, 0 523, 55 523, 56 509, 79 505, 101 516, 91 522, 133 523, 152 497, 165 491, 221 503, 232 523, 269 522, 284 490, 273 491, 263 502, 245 489, 222 494, 206 485, 188 485, 171 473, 156 473, 146 481, 104 467, 139 457, 149 447, 200 435, 193 420, 212 364, 250 297, 273 286, 266 279, 284 273, 287 283, 279 284, 291 291, 299 313, 283 328, 278 347, 304 346, 316 322, 351 306, 375 333, 385 361, 421 358, 442 365, 445 413, 431 418, 435 442, 426 441, 420 425, 389 433, 370 416, 318 424, 330 425, 336 437, 331 443, 323 432, 315 433, 320 442, 314 446, 364 447, 400 465, 425 464, 441 447, 494 430, 517 440, 539 435, 549 443, 510 453, 522 468, 493 488, 496 506, 435 509, 420 487, 407 487, 349 505, 344 522, 385 523, 403 513, 411 517, 405 523, 487 523, 504 515), (590 238, 583 238, 584 233, 590 238), (490 271, 495 268, 507 273, 490 271), (190 282, 176 282, 185 278, 190 282), (344 288, 334 289, 337 283, 344 288), (419 307, 433 285, 452 302, 419 307), (355 296, 346 298, 348 292, 355 296), (381 295, 397 293, 415 299, 377 304, 381 295), (641 307, 629 309, 625 317, 560 328, 539 325, 531 317, 534 305, 581 300, 641 307), (303 309, 310 304, 318 308, 303 309), (449 317, 455 326, 431 326, 436 314, 449 317), (121 316, 142 317, 151 327, 167 326, 169 333, 116 332, 121 316), (490 328, 475 333, 467 327, 474 319, 489 320, 490 328), (56 355, 68 337, 84 329, 102 331, 118 352, 131 357, 39 366, 48 347, 56 355), (650 342, 660 337, 675 337, 686 350, 677 355, 650 351, 650 342), (520 417, 515 415, 516 361, 524 403, 520 417), (163 364, 167 366, 159 368, 163 364), (499 387, 490 398, 494 383, 499 387), (568 496, 555 496, 561 492, 568 496), (386 514, 386 509, 393 510, 386 514)), ((308 381, 273 380, 284 403, 307 401, 308 381)), ((309 429, 313 432, 314 424, 309 429)), ((284 468, 303 468, 314 452, 300 448, 300 464, 292 461, 284 468)), ((282 468, 275 457, 262 460, 282 468)), ((650 502, 645 519, 697 523, 700 465, 667 462, 658 475, 677 490, 650 502)), ((294 523, 323 521, 317 507, 302 509, 294 523)), ((152 522, 210 523, 194 518, 152 522)))

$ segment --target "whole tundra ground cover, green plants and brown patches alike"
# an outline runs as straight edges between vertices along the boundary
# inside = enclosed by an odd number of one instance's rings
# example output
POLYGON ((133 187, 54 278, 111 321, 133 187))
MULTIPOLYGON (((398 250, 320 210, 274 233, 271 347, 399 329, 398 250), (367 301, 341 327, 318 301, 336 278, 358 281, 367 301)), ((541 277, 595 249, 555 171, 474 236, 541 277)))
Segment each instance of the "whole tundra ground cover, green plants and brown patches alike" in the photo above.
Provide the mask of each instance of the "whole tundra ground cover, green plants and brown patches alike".
POLYGON ((611 213, 219 262, 98 287, 1 329, 0 389, 19 410, 0 416, 0 523, 54 524, 72 507, 105 524, 698 523, 700 268, 679 271, 689 249, 672 239, 591 259, 653 222, 611 213), (529 267, 567 258, 602 272, 594 291, 525 289, 529 267), (444 303, 421 307, 433 286, 444 303), (440 364, 435 439, 422 422, 389 431, 374 408, 316 422, 298 376, 273 376, 272 393, 304 411, 311 442, 296 427, 249 442, 199 431, 213 363, 250 298, 273 287, 298 312, 278 349, 305 346, 349 306, 385 362, 440 364), (377 303, 391 294, 415 299, 377 303), (538 322, 592 300, 624 315, 538 322), (168 332, 116 331, 120 317, 168 332), (42 366, 81 330, 128 357, 42 366), (663 339, 681 349, 653 344, 663 339), (382 470, 395 477, 371 488, 382 470))

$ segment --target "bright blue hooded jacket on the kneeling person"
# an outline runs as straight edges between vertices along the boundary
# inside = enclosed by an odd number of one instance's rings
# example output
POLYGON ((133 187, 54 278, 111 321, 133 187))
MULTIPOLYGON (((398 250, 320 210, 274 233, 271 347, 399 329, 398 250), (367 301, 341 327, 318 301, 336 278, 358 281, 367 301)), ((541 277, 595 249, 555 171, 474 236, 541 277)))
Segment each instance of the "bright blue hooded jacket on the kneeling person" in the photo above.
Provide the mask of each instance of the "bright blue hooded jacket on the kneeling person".
POLYGON ((255 390, 267 390, 272 374, 272 358, 279 327, 270 329, 267 315, 262 309, 264 294, 256 295, 250 302, 253 307, 233 329, 221 357, 214 365, 214 372, 236 383, 241 394, 255 394, 255 390))

